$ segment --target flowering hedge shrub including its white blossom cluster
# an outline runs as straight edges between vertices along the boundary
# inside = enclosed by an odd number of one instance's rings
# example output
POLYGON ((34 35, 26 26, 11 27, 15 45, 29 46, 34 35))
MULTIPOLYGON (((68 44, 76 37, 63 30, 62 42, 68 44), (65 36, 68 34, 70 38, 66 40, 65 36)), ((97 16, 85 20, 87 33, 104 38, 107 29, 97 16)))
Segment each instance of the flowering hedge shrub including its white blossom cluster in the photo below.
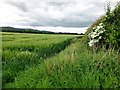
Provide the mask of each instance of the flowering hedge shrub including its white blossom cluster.
POLYGON ((88 34, 88 45, 104 45, 106 48, 120 47, 120 4, 118 3, 113 11, 107 7, 106 15, 100 23, 92 27, 88 34))

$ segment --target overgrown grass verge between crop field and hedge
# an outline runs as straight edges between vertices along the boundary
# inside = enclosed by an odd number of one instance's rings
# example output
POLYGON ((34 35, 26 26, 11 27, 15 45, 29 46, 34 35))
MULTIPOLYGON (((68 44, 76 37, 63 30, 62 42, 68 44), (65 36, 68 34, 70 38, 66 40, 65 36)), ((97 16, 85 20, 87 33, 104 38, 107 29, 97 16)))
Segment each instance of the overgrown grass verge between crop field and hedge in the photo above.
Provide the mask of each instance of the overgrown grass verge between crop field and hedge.
POLYGON ((61 53, 21 71, 4 88, 120 88, 119 58, 115 50, 95 52, 76 39, 61 53))

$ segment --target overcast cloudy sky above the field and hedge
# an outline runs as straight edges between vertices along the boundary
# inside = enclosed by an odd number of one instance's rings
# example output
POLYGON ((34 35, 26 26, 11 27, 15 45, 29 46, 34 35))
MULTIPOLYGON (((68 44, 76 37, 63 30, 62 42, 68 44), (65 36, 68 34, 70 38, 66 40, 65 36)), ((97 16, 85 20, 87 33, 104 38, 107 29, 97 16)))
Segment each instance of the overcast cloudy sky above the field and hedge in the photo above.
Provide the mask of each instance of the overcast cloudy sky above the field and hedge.
MULTIPOLYGON (((0 0, 0 26, 84 33, 110 0, 0 0)), ((114 8, 119 0, 111 0, 114 8)))

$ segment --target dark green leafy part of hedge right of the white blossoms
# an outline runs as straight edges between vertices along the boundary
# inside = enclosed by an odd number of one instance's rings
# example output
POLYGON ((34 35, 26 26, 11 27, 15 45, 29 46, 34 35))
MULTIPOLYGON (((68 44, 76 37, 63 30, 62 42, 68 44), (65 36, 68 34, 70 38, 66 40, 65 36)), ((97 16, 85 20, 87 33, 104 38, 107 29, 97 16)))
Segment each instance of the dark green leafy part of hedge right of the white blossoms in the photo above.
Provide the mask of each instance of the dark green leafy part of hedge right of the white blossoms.
POLYGON ((103 19, 105 34, 104 43, 107 47, 120 46, 120 4, 118 3, 113 11, 108 5, 106 15, 103 19))

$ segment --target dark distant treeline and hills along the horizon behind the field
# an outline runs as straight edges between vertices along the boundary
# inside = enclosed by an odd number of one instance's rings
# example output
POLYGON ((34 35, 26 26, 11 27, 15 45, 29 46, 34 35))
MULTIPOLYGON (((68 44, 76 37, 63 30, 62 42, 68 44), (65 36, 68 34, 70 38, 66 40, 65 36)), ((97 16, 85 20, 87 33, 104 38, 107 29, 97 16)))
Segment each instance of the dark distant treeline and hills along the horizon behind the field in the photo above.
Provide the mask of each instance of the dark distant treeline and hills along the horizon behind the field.
POLYGON ((36 30, 36 29, 21 29, 13 27, 1 27, 0 31, 2 32, 18 32, 18 33, 35 33, 35 34, 70 34, 70 35, 83 35, 83 33, 63 33, 63 32, 51 32, 45 30, 36 30))

